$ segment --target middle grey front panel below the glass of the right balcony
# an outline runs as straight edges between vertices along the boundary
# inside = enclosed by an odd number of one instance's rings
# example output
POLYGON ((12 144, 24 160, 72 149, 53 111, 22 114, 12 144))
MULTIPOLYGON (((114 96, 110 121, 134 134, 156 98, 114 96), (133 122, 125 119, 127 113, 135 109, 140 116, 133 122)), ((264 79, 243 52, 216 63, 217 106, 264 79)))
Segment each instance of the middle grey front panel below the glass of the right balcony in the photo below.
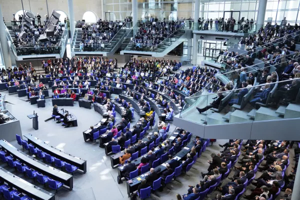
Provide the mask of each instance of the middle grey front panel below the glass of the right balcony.
POLYGON ((206 125, 204 138, 248 139, 251 134, 251 122, 206 125))

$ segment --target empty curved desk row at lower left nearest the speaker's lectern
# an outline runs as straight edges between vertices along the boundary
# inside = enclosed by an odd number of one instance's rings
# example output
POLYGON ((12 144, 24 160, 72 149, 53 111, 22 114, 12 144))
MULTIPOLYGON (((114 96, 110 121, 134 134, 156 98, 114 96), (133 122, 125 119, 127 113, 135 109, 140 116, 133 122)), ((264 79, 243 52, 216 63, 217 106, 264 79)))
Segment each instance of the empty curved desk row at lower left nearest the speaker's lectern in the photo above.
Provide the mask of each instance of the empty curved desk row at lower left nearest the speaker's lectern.
POLYGON ((33 144, 34 146, 38 147, 39 149, 43 150, 44 152, 61 159, 69 164, 77 166, 83 173, 86 173, 86 160, 81 159, 80 157, 75 157, 71 154, 65 153, 53 146, 49 146, 44 141, 38 139, 32 134, 25 134, 23 135, 27 138, 28 143, 33 144))

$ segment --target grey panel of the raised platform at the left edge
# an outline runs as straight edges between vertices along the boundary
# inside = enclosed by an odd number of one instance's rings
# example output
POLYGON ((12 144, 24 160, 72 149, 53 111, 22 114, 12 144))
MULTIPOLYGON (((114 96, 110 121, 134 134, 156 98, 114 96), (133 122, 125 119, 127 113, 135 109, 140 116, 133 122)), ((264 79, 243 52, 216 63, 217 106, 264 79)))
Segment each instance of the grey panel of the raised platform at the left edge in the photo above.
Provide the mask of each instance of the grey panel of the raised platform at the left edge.
POLYGON ((0 125, 0 139, 5 139, 6 141, 13 141, 16 139, 15 134, 22 136, 19 120, 3 123, 0 125))

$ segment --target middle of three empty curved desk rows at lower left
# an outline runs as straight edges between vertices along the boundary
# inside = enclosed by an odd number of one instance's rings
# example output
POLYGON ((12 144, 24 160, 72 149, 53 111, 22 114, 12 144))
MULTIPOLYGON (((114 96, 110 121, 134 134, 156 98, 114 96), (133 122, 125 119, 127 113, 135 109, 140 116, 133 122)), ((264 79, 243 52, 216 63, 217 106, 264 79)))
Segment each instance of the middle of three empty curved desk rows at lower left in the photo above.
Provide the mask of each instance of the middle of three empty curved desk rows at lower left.
POLYGON ((26 153, 20 151, 19 149, 12 146, 10 143, 4 139, 0 140, 0 146, 2 150, 11 154, 14 158, 20 160, 20 162, 28 165, 30 168, 37 170, 38 172, 49 176, 54 180, 62 182, 64 185, 68 186, 69 190, 73 188, 73 176, 60 171, 52 166, 49 166, 43 162, 40 162, 33 157, 27 155, 26 153))

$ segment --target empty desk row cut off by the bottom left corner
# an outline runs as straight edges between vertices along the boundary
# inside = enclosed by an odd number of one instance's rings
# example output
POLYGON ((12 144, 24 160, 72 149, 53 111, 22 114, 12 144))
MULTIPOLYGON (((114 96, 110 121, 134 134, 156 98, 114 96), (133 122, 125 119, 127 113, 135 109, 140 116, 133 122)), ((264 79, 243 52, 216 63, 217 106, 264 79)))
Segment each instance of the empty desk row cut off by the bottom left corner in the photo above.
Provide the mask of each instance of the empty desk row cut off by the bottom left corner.
POLYGON ((26 194, 27 196, 36 200, 54 200, 55 196, 42 188, 39 188, 24 179, 19 178, 13 173, 0 167, 0 179, 8 186, 17 189, 19 192, 26 194))

